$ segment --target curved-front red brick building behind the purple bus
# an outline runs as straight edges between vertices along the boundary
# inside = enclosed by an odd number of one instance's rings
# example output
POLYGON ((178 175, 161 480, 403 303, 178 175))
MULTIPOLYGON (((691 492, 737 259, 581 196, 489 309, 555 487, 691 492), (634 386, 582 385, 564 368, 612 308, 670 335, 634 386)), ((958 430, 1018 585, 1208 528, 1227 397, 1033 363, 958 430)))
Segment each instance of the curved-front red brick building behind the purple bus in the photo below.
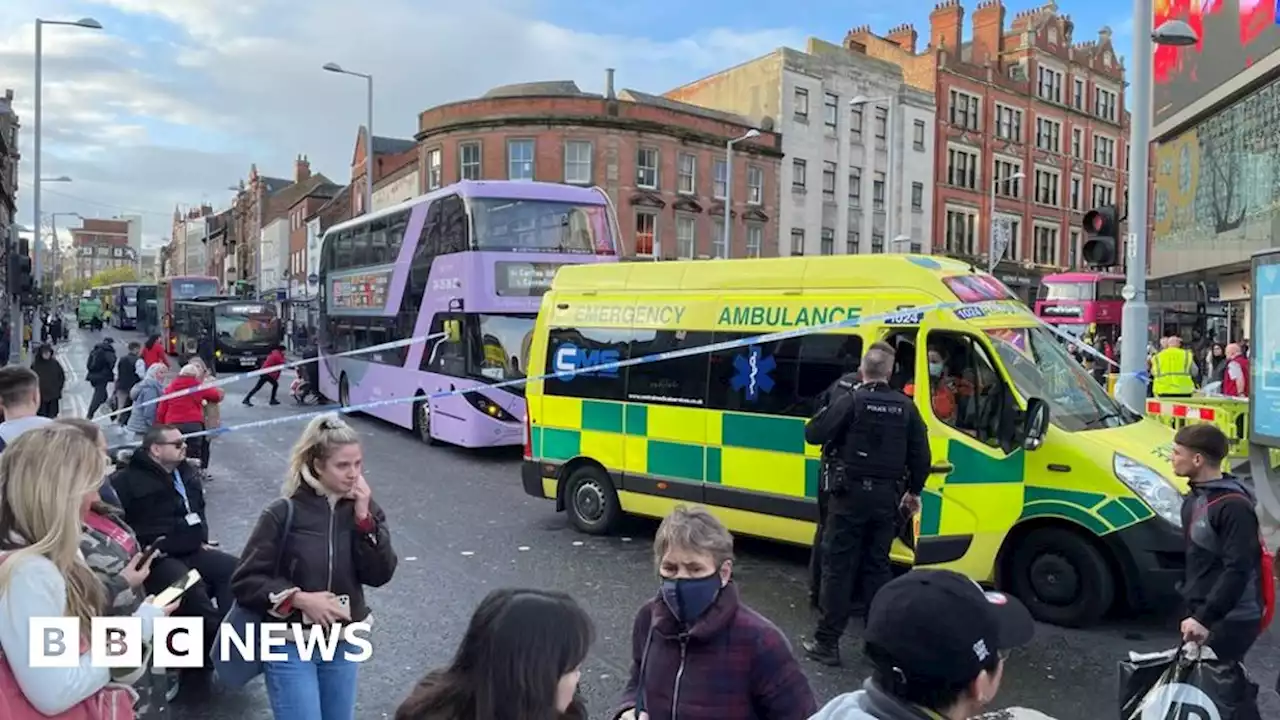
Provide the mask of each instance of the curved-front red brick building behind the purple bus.
POLYGON ((613 200, 627 255, 778 254, 782 138, 769 128, 735 146, 732 247, 723 246, 726 142, 753 126, 728 113, 572 82, 499 87, 422 111, 421 191, 460 179, 599 186, 613 200))

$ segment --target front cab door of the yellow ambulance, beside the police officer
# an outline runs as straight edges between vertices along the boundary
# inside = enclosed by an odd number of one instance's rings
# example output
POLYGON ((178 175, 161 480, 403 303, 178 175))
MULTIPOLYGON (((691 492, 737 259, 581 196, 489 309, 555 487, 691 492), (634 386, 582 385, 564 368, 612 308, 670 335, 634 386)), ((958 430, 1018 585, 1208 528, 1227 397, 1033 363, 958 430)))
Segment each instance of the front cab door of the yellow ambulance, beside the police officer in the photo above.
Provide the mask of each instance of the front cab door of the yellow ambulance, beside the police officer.
POLYGON ((1024 451, 1006 439, 1016 401, 989 340, 955 314, 931 314, 914 350, 915 405, 933 455, 916 564, 991 580, 1023 511, 1024 451))

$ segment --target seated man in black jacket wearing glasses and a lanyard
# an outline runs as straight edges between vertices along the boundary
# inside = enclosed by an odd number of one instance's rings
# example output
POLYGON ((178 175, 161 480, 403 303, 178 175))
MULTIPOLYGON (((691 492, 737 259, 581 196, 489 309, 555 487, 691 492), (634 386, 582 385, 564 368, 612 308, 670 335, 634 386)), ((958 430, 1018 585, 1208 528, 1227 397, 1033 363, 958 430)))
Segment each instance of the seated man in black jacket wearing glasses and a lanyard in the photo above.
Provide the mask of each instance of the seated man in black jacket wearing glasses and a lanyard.
POLYGON ((200 474, 187 462, 187 443, 178 428, 152 425, 128 466, 111 477, 111 487, 141 544, 164 538, 164 556, 151 564, 146 580, 148 593, 163 591, 187 570, 200 573, 202 582, 182 597, 182 614, 204 618, 205 642, 212 643, 232 606, 237 559, 210 544, 205 491, 200 474))

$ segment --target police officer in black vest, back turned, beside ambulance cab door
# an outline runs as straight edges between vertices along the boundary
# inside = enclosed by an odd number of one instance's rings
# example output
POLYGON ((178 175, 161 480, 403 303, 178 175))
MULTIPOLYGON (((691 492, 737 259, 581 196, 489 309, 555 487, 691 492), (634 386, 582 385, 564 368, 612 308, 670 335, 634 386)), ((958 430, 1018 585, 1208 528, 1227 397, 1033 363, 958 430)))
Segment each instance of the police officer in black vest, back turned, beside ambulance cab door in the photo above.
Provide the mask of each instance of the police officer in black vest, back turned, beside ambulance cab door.
POLYGON ((822 483, 831 493, 822 548, 822 615, 810 659, 840 665, 840 637, 852 614, 854 588, 869 606, 892 579, 890 547, 899 509, 919 511, 929 474, 928 430, 911 400, 888 384, 893 348, 872 345, 861 361, 863 383, 832 398, 805 428, 809 442, 836 445, 822 483), (906 495, 899 480, 906 474, 906 495))

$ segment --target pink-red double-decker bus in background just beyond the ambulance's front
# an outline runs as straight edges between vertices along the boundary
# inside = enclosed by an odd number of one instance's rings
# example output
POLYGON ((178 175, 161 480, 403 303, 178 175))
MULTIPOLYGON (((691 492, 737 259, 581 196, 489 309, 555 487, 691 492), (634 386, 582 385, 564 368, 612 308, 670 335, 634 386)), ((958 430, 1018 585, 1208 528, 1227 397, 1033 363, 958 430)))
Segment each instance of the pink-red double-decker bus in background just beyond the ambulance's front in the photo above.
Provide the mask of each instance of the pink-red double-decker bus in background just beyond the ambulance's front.
POLYGON ((1120 334, 1124 275, 1108 273, 1057 273, 1044 275, 1036 300, 1036 315, 1074 336, 1089 325, 1098 334, 1115 340, 1120 334))

